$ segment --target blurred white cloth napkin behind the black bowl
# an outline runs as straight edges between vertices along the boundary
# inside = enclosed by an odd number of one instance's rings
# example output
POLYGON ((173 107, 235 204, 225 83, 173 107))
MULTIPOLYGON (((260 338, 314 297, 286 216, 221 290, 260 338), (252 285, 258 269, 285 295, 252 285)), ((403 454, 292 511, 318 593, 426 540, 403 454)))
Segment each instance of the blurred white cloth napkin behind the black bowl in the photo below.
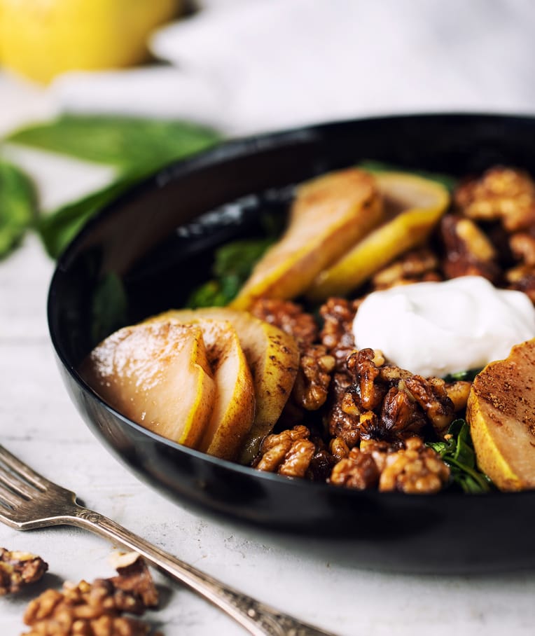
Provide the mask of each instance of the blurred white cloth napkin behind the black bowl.
POLYGON ((230 134, 408 111, 535 109, 531 0, 211 0, 156 32, 172 68, 67 74, 64 109, 230 134))

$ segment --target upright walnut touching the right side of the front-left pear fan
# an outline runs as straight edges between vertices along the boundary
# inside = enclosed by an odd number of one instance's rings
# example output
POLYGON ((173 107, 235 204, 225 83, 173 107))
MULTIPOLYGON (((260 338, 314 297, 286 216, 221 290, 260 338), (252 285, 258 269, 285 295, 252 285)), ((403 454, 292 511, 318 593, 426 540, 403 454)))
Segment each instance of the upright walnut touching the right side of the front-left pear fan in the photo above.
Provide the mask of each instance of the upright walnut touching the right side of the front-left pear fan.
POLYGON ((324 345, 309 345, 302 352, 292 399, 305 408, 317 410, 327 399, 335 359, 327 354, 324 345))

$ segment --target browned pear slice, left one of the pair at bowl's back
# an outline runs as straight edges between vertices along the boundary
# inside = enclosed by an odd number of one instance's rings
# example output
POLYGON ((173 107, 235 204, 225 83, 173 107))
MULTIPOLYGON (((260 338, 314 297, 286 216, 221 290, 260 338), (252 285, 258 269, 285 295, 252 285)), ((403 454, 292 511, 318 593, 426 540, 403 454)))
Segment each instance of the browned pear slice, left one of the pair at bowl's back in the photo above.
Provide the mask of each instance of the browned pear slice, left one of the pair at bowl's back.
POLYGON ((230 303, 247 309, 258 297, 293 298, 382 219, 374 178, 350 168, 300 186, 284 236, 256 264, 230 303))

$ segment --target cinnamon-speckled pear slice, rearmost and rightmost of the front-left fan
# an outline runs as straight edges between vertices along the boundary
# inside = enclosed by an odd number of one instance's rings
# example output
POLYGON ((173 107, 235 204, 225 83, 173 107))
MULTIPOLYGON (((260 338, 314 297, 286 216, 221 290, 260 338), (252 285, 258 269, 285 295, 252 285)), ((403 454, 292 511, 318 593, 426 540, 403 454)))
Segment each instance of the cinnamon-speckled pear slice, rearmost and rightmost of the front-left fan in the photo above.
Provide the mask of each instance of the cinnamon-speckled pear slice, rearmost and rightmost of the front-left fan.
POLYGON ((192 322, 200 318, 230 322, 236 329, 253 376, 256 413, 239 453, 239 462, 249 464, 263 438, 270 434, 291 394, 299 366, 296 340, 278 327, 249 312, 228 307, 170 310, 151 320, 176 319, 192 322))

